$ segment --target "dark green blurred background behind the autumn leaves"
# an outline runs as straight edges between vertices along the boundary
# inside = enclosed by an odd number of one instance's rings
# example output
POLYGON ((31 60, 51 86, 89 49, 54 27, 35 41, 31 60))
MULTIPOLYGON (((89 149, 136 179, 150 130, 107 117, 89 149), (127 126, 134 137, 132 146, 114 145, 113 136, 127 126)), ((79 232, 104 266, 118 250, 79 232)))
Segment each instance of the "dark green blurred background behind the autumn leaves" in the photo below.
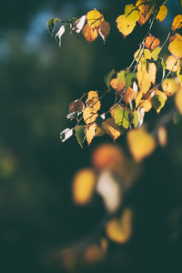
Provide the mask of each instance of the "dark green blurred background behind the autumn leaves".
MULTIPOLYGON (((65 272, 51 253, 93 232, 105 214, 99 197, 87 207, 72 201, 71 182, 108 137, 82 150, 75 138, 62 144, 59 132, 68 105, 88 90, 104 90, 112 68, 128 66, 147 25, 124 39, 116 17, 131 1, 4 1, 0 9, 0 271, 65 272), (50 17, 69 19, 99 9, 111 24, 106 45, 82 35, 63 35, 62 48, 46 29, 50 17)), ((179 14, 168 0, 168 15, 153 33, 162 41, 179 14)), ((157 116, 156 116, 157 117, 157 116)), ((143 164, 143 175, 127 202, 135 229, 124 246, 111 244, 99 266, 78 272, 180 272, 182 132, 167 125, 168 144, 143 164)), ((117 143, 125 145, 125 136, 117 143)))

